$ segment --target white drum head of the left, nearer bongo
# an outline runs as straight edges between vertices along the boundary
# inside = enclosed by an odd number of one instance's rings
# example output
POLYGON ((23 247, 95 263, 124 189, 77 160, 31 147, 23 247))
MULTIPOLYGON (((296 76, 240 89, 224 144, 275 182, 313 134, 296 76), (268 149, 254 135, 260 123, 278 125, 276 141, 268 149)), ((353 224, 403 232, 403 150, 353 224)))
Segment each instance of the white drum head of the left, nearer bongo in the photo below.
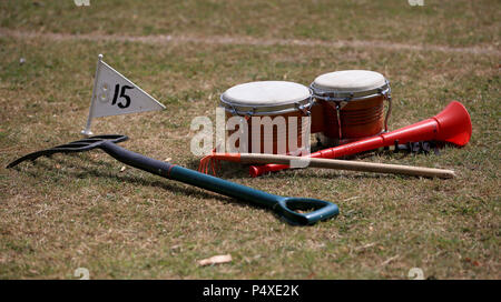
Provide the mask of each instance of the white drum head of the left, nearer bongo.
POLYGON ((220 101, 228 111, 238 114, 277 114, 295 111, 297 105, 308 105, 311 95, 310 89, 298 83, 259 81, 232 87, 220 95, 220 101))

